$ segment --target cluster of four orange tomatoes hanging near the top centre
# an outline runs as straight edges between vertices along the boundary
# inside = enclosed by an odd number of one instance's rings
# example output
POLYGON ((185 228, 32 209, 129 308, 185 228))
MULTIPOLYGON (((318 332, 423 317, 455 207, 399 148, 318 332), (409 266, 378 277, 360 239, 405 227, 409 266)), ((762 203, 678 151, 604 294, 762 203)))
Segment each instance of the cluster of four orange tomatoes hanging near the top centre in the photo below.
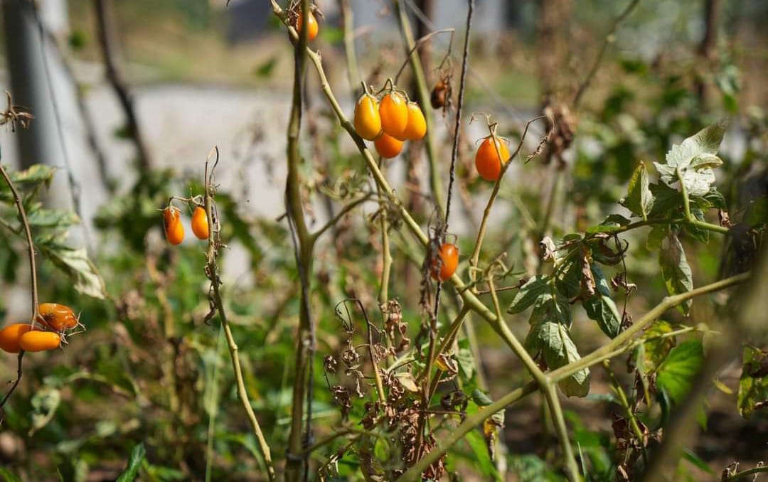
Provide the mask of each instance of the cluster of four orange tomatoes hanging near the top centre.
POLYGON ((389 89, 379 94, 366 91, 355 104, 355 130, 372 140, 379 156, 396 157, 406 140, 419 140, 427 132, 427 122, 419 104, 410 101, 405 92, 389 89))

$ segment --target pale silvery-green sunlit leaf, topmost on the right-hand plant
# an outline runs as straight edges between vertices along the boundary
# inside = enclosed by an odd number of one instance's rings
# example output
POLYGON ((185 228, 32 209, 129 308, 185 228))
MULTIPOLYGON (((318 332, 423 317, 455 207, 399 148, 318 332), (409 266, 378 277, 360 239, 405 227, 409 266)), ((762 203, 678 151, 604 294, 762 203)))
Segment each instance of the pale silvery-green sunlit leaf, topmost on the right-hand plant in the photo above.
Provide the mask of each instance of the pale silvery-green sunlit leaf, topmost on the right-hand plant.
POLYGON ((708 193, 715 181, 713 168, 723 163, 715 154, 720 149, 727 127, 727 119, 720 120, 688 137, 680 145, 673 146, 667 153, 666 163, 654 163, 661 181, 667 186, 677 181, 684 183, 690 196, 708 193))

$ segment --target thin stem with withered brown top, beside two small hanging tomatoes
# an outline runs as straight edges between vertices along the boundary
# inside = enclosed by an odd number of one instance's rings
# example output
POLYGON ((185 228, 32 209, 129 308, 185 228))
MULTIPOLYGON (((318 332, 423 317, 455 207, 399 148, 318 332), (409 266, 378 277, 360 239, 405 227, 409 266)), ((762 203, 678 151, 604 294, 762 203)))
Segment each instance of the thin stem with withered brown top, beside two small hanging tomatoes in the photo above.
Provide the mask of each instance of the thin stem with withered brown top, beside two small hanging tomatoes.
MULTIPOLYGON (((214 147, 216 150, 216 163, 219 161, 219 148, 214 147)), ((210 155, 209 155, 210 157, 210 155)), ((215 163, 214 163, 215 167, 215 163)), ((213 169, 211 169, 210 177, 213 177, 213 169)), ((217 266, 218 250, 221 243, 219 239, 219 230, 216 227, 217 220, 214 219, 214 187, 210 185, 210 177, 208 173, 208 161, 205 163, 205 213, 209 221, 210 229, 208 229, 208 249, 206 253, 207 264, 205 267, 206 274, 210 279, 211 286, 211 301, 214 303, 215 309, 219 314, 221 320, 221 326, 224 331, 224 335, 227 338, 227 345, 230 349, 230 358, 232 358, 232 368, 235 375, 235 382, 237 386, 237 397, 240 398, 240 404, 243 405, 248 421, 250 421, 251 428, 253 428, 253 434, 256 435, 257 444, 264 457, 264 464, 266 464, 266 474, 270 479, 270 482, 275 480, 275 469, 272 463, 272 455, 270 452, 270 446, 266 443, 263 432, 259 425, 259 421, 256 418, 256 414, 253 413, 253 408, 248 400, 248 393, 245 388, 245 382, 243 381, 243 369, 240 366, 240 357, 237 355, 237 343, 232 335, 229 322, 227 321, 227 312, 224 310, 224 303, 221 299, 219 279, 219 268, 217 266)))

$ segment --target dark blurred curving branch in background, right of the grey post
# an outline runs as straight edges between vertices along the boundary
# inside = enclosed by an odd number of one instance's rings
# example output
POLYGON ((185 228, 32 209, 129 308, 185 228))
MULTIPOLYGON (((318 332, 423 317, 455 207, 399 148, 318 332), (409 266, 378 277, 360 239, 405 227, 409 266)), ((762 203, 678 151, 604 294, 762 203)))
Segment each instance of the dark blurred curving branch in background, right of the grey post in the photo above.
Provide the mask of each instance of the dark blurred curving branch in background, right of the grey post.
POLYGON ((107 68, 107 78, 115 94, 118 94, 118 100, 123 107, 128 134, 136 145, 139 168, 142 171, 149 170, 151 167, 149 151, 147 150, 147 145, 144 144, 141 130, 139 130, 134 100, 114 59, 114 31, 111 24, 110 0, 94 0, 94 4, 96 7, 99 46, 101 47, 101 55, 104 58, 104 65, 107 68))

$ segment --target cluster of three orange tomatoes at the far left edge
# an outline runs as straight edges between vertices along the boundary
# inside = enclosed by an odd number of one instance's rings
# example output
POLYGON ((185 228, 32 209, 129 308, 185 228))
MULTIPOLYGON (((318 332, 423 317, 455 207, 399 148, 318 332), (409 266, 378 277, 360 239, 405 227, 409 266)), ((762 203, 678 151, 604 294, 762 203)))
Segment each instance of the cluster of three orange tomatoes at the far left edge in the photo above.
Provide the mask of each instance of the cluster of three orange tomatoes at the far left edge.
POLYGON ((8 353, 45 352, 54 350, 66 342, 65 336, 78 326, 80 320, 71 308, 58 303, 38 305, 40 326, 30 323, 13 323, 0 330, 0 349, 8 353))

